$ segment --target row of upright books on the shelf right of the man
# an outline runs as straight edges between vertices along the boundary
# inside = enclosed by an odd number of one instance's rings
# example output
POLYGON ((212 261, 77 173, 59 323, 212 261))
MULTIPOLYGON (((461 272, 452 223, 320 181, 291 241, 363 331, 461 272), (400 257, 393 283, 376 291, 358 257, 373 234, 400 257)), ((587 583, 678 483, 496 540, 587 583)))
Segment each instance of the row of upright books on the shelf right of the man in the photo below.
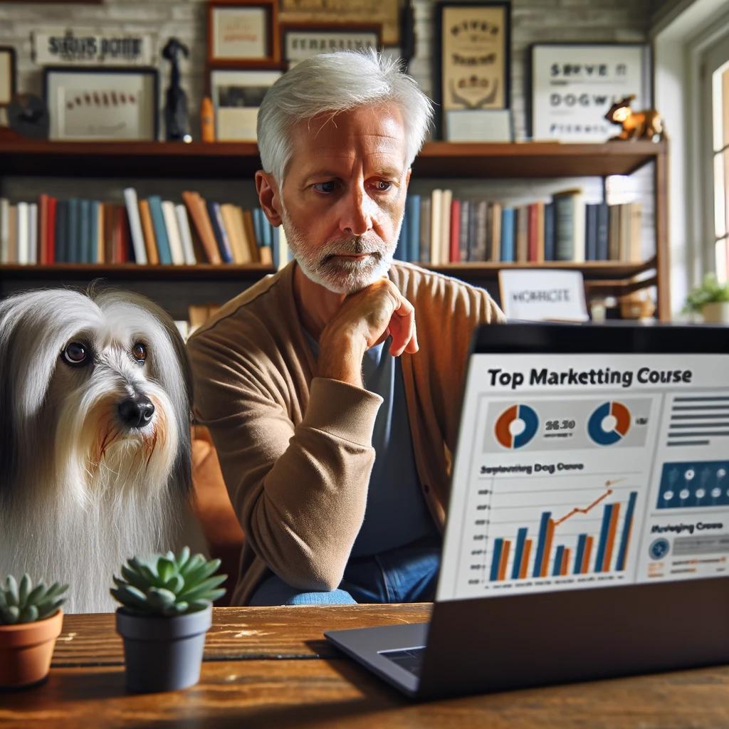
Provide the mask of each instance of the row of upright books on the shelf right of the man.
POLYGON ((641 230, 640 203, 585 203, 580 190, 514 207, 433 190, 408 196, 395 258, 432 265, 640 262, 641 230))

